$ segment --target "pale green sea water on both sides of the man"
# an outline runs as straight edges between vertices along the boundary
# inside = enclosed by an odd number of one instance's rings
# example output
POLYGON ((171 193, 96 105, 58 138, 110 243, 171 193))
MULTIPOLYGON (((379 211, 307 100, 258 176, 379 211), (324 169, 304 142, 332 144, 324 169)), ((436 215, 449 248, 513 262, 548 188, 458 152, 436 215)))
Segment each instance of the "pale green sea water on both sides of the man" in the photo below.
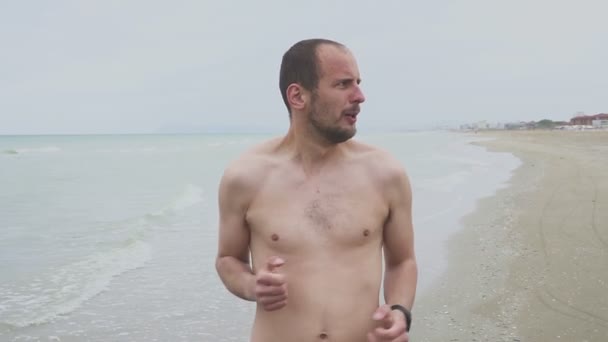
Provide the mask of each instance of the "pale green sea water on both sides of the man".
MULTIPOLYGON (((225 166, 269 135, 0 136, 0 341, 247 341, 214 266, 225 166)), ((360 134, 412 184, 419 293, 519 161, 452 132, 360 134)))

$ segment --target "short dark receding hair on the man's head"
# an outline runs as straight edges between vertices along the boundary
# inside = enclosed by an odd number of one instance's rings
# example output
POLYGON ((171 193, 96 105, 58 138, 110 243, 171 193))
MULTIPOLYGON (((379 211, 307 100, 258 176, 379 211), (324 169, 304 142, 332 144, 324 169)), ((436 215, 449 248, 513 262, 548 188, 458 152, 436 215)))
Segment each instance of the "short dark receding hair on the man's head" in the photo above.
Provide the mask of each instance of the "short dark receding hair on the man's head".
POLYGON ((287 87, 292 83, 298 83, 310 91, 317 89, 320 78, 317 49, 324 44, 345 47, 343 44, 329 39, 307 39, 295 43, 283 55, 279 74, 279 89, 290 116, 291 108, 287 101, 287 87))

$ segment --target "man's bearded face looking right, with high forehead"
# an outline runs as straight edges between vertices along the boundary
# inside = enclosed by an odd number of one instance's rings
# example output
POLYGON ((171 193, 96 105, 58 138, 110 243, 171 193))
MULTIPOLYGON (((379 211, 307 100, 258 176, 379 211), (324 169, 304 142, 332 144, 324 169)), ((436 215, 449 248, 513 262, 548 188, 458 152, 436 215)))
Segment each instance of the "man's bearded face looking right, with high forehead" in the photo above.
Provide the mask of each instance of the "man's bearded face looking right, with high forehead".
POLYGON ((309 111, 311 129, 330 143, 341 143, 357 132, 359 104, 365 96, 357 62, 350 52, 332 45, 317 51, 319 84, 312 92, 309 111))

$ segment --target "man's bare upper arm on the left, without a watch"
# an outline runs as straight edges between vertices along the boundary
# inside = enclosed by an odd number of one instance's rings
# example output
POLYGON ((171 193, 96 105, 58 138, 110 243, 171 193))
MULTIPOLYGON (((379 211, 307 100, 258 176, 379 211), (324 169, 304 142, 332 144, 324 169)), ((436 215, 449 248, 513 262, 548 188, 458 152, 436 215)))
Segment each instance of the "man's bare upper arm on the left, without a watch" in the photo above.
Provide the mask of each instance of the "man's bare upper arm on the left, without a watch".
POLYGON ((252 189, 238 164, 226 169, 220 181, 218 258, 232 256, 249 262, 249 229, 245 219, 252 189))

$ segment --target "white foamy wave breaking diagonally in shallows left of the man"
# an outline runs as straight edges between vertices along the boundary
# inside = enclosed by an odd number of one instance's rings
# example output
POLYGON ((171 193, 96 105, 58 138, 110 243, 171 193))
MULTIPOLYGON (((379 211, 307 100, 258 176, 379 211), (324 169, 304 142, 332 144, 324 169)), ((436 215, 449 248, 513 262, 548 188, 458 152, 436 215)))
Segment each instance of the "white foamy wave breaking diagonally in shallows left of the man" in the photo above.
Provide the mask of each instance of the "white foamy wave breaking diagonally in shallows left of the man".
POLYGON ((151 258, 151 247, 146 242, 150 234, 156 228, 173 226, 183 211, 203 200, 203 189, 189 184, 156 212, 88 229, 103 235, 95 243, 95 248, 103 252, 89 254, 26 282, 0 284, 0 331, 7 326, 12 330, 45 324, 78 309, 104 292, 115 277, 143 267, 151 258))

